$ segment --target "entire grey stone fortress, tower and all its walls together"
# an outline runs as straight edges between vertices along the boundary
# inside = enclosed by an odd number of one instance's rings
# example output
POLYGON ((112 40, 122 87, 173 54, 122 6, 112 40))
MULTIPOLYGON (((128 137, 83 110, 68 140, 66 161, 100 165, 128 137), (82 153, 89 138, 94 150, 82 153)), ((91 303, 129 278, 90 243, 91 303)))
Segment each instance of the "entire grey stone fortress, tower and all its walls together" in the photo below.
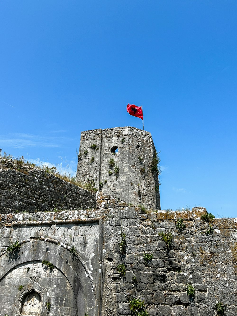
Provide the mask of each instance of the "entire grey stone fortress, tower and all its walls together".
POLYGON ((97 181, 96 196, 0 169, 0 316, 237 315, 237 219, 152 210, 155 156, 145 131, 82 132, 77 178, 97 181))

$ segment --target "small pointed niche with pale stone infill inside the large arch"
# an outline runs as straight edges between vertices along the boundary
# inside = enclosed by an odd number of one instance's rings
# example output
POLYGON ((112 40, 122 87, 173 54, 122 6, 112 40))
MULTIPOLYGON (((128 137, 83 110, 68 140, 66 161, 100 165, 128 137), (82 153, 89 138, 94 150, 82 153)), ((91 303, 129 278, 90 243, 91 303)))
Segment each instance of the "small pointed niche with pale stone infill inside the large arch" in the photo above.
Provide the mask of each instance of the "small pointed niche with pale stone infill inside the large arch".
POLYGON ((27 293, 22 300, 21 316, 39 316, 41 314, 41 297, 40 294, 31 291, 27 293))

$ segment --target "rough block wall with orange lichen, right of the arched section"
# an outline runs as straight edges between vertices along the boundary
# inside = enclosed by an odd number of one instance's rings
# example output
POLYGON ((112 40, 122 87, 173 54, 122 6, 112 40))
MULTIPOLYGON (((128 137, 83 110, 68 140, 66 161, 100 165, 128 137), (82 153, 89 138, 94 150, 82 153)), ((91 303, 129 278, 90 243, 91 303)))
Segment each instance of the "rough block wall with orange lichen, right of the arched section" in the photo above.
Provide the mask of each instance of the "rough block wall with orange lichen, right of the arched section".
POLYGON ((147 215, 109 197, 101 197, 97 206, 107 213, 101 315, 130 315, 131 298, 144 300, 154 316, 216 316, 217 302, 226 306, 226 315, 237 314, 237 219, 206 223, 201 220, 204 208, 147 215), (185 228, 179 232, 180 218, 185 228), (208 235, 210 225, 214 231, 208 235), (119 253, 121 232, 126 234, 124 257, 119 253), (162 232, 172 234, 171 249, 162 232), (144 254, 154 259, 145 264, 144 254), (121 263, 126 267, 124 278, 117 270, 121 263), (194 298, 187 295, 189 284, 194 298))

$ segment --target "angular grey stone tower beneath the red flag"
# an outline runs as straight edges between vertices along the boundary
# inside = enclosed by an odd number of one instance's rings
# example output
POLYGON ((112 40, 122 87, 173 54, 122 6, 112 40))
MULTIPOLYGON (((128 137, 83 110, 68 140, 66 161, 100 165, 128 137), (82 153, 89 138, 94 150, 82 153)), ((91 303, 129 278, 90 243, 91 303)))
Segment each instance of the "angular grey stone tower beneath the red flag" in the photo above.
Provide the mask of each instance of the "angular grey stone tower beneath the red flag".
POLYGON ((160 192, 151 134, 135 127, 83 131, 76 179, 95 183, 106 195, 160 209, 160 192))

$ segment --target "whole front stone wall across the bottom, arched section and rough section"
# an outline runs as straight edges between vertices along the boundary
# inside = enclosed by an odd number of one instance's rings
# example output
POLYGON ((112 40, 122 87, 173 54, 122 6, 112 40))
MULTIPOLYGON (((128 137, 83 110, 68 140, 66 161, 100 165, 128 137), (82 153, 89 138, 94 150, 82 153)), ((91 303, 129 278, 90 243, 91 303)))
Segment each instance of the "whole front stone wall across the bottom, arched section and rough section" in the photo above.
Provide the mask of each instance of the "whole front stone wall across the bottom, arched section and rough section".
MULTIPOLYGON (((205 213, 204 208, 193 208, 147 215, 98 192, 93 210, 2 215, 0 313, 19 315, 25 302, 21 300, 31 291, 35 297, 39 293, 38 305, 51 302, 51 315, 129 315, 129 300, 140 297, 150 315, 217 315, 216 301, 223 301, 226 315, 234 316, 237 219, 214 219, 214 232, 207 236, 209 224, 201 220, 205 213), (181 217, 185 229, 179 233, 175 223, 181 217), (119 254, 121 231, 126 234, 124 258, 119 254), (169 251, 159 235, 162 231, 172 234, 169 251), (16 240, 21 249, 11 260, 6 249, 16 240), (69 251, 72 246, 75 258, 69 251), (144 253, 154 256, 147 265, 144 253), (52 273, 42 260, 53 262, 52 273), (122 261, 124 279, 117 270, 122 261), (188 284, 195 288, 193 300, 186 294, 188 284), (20 285, 25 294, 18 290, 20 285)), ((46 315, 44 308, 39 315, 46 315)))

